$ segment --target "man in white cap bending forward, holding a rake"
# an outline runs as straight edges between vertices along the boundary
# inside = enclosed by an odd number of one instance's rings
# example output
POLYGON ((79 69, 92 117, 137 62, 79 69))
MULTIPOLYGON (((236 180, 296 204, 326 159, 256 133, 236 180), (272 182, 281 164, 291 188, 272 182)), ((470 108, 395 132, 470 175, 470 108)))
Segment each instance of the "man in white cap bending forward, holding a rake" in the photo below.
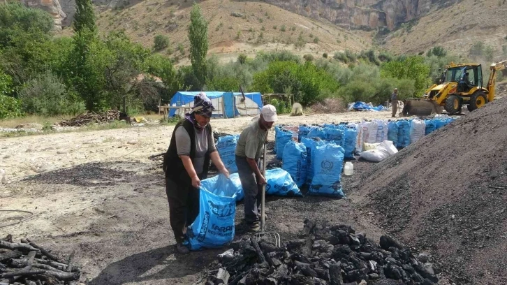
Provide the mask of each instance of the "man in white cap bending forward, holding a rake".
POLYGON ((277 109, 273 105, 265 105, 258 119, 251 122, 237 140, 236 166, 244 191, 244 221, 251 233, 260 230, 260 195, 263 184, 267 183, 258 168, 258 161, 263 153, 267 131, 277 119, 277 109))

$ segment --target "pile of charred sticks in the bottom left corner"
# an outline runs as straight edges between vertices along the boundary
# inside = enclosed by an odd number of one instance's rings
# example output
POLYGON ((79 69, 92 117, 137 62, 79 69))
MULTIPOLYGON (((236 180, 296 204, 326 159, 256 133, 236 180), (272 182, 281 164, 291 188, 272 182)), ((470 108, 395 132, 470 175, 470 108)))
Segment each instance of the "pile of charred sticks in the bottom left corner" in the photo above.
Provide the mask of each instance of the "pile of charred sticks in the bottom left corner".
POLYGON ((63 262, 29 239, 13 242, 8 235, 0 240, 0 284, 77 284, 80 275, 73 254, 63 262))

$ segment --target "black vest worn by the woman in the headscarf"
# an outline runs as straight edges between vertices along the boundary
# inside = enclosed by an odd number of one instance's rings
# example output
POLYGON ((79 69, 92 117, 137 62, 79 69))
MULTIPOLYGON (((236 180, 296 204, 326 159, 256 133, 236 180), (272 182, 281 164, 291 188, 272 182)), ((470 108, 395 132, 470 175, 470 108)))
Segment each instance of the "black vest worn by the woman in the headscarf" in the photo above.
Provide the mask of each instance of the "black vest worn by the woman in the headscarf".
MULTIPOLYGON (((194 159, 196 156, 196 129, 193 128, 193 124, 188 119, 182 119, 179 121, 175 129, 172 131, 171 142, 166 154, 163 156, 163 170, 166 173, 166 177, 177 183, 191 183, 189 173, 186 172, 185 166, 183 165, 182 159, 179 158, 176 148, 176 130, 179 126, 183 126, 190 136, 190 159, 194 159)), ((210 141, 212 136, 211 124, 207 124, 207 140, 210 141)), ((204 158, 203 173, 200 177, 201 180, 206 179, 207 171, 210 167, 210 152, 207 152, 204 158)), ((199 174, 199 173, 197 173, 199 174)))

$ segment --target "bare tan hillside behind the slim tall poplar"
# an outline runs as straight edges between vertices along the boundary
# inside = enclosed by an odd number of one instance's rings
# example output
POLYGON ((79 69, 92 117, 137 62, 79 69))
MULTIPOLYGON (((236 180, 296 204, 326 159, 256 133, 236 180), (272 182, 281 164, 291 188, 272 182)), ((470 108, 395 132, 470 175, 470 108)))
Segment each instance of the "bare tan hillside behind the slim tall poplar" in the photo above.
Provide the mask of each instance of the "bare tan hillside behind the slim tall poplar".
MULTIPOLYGON (((209 23, 210 54, 220 54, 223 60, 260 50, 291 50, 317 56, 371 47, 372 37, 367 31, 346 31, 330 22, 311 20, 267 3, 208 0, 200 2, 200 6, 209 23)), ((166 35, 171 42, 170 56, 179 59, 180 64, 188 62, 189 3, 147 0, 122 9, 99 6, 97 10, 97 24, 102 32, 123 29, 145 47, 153 45, 156 35, 166 35)))

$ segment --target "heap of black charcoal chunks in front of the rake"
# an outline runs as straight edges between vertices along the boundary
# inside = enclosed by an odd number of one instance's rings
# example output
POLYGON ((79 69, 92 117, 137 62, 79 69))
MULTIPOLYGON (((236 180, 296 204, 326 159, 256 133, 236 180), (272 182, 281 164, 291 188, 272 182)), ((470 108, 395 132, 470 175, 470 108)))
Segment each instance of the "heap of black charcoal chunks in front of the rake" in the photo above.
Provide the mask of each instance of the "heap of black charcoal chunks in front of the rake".
POLYGON ((427 256, 416 258, 383 235, 380 247, 351 226, 319 226, 306 220, 300 239, 283 247, 254 240, 231 243, 220 269, 207 279, 218 284, 424 284, 439 282, 427 256))

